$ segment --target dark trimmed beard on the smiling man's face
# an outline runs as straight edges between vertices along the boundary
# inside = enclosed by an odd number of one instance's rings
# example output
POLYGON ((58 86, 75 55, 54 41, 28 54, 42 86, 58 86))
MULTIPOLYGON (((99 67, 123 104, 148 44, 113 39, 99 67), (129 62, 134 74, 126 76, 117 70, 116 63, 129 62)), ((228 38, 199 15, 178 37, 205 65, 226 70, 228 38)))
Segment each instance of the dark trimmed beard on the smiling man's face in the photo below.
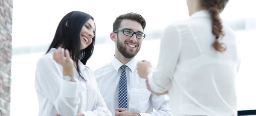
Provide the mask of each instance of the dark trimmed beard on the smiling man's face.
POLYGON ((125 57, 125 58, 134 58, 135 55, 137 55, 137 53, 140 51, 140 44, 137 43, 137 49, 135 50, 130 50, 127 51, 126 45, 122 44, 121 41, 119 41, 119 38, 117 37, 117 42, 116 42, 116 46, 118 51, 125 57))

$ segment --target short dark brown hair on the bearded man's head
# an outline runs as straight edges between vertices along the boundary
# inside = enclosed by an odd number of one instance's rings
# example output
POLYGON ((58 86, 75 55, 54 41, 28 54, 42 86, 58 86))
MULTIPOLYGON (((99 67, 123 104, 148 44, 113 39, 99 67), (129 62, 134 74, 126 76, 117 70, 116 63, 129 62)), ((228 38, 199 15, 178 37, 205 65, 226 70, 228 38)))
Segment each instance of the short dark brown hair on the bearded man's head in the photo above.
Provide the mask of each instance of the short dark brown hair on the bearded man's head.
POLYGON ((115 32, 119 29, 120 23, 122 22, 123 19, 137 21, 138 23, 141 24, 143 30, 145 29, 145 26, 146 26, 145 19, 140 14, 130 12, 130 13, 122 14, 122 15, 116 17, 116 20, 113 23, 113 32, 115 32))

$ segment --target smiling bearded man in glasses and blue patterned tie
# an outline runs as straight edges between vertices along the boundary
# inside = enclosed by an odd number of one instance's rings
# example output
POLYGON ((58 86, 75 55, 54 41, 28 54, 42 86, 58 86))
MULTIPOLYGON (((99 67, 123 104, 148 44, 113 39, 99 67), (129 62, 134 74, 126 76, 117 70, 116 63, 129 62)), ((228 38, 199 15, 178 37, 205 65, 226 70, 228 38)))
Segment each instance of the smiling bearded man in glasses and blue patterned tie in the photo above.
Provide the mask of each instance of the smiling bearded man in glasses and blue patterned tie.
POLYGON ((147 90, 137 74, 134 56, 140 51, 145 19, 136 13, 122 14, 113 23, 111 40, 115 55, 111 63, 94 75, 108 109, 114 116, 171 116, 168 99, 147 90), (153 108, 157 110, 153 112, 153 108))

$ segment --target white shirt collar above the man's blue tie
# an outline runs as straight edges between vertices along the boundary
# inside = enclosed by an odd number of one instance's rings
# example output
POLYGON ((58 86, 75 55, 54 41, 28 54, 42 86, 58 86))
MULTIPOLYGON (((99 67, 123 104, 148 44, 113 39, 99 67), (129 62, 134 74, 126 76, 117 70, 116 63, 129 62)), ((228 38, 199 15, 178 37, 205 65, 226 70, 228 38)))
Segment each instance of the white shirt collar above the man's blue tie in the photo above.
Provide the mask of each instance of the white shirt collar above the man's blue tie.
MULTIPOLYGON (((113 60, 112 60, 112 65, 114 67, 114 69, 116 70, 116 72, 118 72, 119 68, 123 65, 122 62, 120 62, 118 59, 116 59, 115 56, 113 56, 113 60)), ((133 73, 136 66, 137 66, 137 61, 135 60, 135 58, 132 58, 128 63, 125 64, 127 67, 129 67, 131 69, 131 72, 133 73)))

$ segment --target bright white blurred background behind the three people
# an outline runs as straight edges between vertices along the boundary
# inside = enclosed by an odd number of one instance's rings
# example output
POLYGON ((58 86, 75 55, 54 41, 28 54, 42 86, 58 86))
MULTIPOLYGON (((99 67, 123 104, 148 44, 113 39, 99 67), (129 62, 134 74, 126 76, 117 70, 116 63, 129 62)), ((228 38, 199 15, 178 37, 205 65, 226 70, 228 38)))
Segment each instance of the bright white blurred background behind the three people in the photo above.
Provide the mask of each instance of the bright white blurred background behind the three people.
MULTIPOLYGON (((186 0, 1 1, 13 2, 12 84, 9 106, 11 116, 38 115, 38 100, 34 86, 35 64, 45 54, 59 21, 68 12, 74 10, 86 12, 95 19, 96 45, 93 56, 87 62, 93 70, 102 67, 113 58, 114 43, 110 39, 110 33, 113 21, 120 14, 134 12, 145 18, 146 38, 136 59, 147 59, 154 66, 158 59, 160 35, 163 29, 174 21, 189 18, 186 0)), ((234 29, 241 44, 242 62, 236 80, 238 110, 256 109, 255 4, 256 0, 230 0, 221 14, 221 18, 234 29)), ((1 46, 2 44, 0 43, 1 46)))

